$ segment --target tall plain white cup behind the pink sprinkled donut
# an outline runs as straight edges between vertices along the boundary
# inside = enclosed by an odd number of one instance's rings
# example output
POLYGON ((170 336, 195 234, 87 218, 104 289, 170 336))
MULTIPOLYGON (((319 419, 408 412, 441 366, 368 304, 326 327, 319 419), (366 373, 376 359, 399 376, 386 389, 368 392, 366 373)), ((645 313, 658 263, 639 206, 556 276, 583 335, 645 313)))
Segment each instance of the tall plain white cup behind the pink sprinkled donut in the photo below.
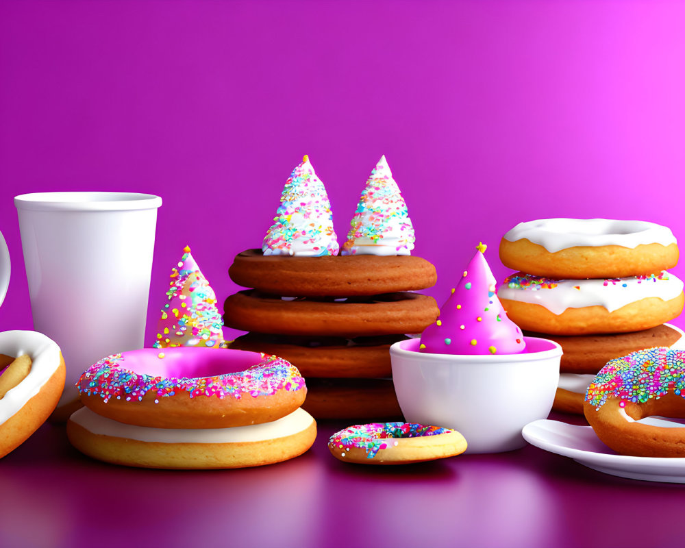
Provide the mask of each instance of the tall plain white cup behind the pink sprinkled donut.
POLYGON ((66 363, 56 414, 74 406, 74 384, 88 366, 143 347, 161 205, 135 192, 14 198, 34 329, 60 345, 66 363))

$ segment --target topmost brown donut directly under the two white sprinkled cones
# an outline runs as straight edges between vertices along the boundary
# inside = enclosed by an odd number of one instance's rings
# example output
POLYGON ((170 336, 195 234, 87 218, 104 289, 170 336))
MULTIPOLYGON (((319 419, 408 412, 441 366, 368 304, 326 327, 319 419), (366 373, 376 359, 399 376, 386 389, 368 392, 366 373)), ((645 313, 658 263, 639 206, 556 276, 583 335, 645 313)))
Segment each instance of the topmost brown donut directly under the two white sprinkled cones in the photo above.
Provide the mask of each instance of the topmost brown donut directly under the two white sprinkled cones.
POLYGON ((435 266, 415 256, 263 256, 239 253, 228 271, 236 284, 283 297, 355 297, 425 289, 435 285, 435 266))

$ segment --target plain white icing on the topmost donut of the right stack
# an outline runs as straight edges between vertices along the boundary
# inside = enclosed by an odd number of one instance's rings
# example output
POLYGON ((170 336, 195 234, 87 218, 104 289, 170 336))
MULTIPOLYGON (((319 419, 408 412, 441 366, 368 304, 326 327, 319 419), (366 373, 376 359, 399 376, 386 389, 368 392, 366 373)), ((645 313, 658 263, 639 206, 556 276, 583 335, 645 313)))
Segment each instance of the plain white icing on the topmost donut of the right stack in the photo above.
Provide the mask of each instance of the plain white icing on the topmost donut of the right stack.
POLYGON ((523 238, 550 253, 577 246, 620 245, 634 249, 642 244, 676 243, 671 229, 662 225, 614 219, 539 219, 519 223, 504 235, 510 242, 523 238))

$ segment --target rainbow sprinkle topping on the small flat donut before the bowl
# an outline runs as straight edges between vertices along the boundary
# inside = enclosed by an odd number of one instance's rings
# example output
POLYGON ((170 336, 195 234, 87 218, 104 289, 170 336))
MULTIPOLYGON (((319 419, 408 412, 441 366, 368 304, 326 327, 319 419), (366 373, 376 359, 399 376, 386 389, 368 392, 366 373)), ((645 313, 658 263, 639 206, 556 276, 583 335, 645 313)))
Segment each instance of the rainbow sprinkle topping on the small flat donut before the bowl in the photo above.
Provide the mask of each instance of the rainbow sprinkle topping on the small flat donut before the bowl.
POLYGON ((367 458, 374 458, 378 451, 388 448, 388 440, 398 438, 421 438, 451 434, 453 430, 438 426, 425 426, 416 423, 369 423, 347 427, 333 434, 328 445, 339 449, 350 448, 366 450, 367 458))

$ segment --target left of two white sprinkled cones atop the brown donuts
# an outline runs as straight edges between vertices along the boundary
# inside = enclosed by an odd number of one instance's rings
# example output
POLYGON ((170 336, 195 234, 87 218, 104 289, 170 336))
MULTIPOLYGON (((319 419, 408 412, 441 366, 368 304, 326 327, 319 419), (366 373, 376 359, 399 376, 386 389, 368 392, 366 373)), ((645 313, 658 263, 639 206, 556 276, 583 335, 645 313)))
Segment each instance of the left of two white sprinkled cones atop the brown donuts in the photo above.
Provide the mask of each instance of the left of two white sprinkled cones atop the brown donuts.
POLYGON ((304 155, 286 181, 262 252, 264 256, 318 257, 337 255, 339 250, 326 189, 304 155))

